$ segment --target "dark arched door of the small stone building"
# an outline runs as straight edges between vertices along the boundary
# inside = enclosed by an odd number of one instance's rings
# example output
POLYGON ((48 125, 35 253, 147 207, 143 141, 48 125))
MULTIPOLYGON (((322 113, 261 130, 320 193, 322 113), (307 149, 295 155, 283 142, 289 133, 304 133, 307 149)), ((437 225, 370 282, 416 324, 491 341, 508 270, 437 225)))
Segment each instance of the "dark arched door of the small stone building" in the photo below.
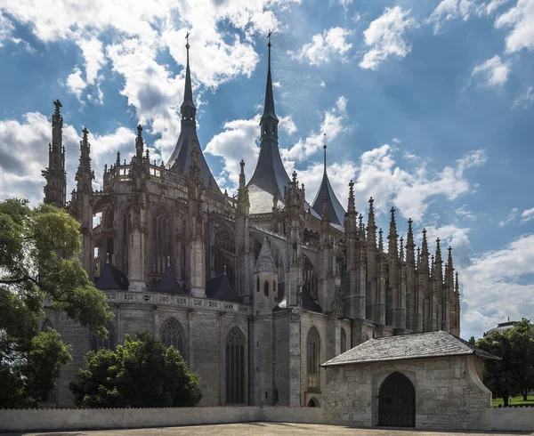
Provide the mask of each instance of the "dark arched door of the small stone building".
POLYGON ((416 426, 416 389, 406 375, 388 375, 378 395, 378 425, 416 426))

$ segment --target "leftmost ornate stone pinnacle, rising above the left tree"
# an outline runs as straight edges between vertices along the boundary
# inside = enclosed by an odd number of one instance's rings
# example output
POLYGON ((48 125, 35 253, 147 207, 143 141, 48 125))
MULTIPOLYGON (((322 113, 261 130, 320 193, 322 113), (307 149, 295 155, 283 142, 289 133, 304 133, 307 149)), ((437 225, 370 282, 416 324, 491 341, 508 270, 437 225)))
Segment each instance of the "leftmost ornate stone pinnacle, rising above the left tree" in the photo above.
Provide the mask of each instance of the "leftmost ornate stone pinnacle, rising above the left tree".
POLYGON ((44 169, 44 203, 65 207, 67 202, 67 173, 65 172, 65 147, 63 147, 63 117, 61 102, 53 102, 52 142, 48 144, 48 167, 44 169))

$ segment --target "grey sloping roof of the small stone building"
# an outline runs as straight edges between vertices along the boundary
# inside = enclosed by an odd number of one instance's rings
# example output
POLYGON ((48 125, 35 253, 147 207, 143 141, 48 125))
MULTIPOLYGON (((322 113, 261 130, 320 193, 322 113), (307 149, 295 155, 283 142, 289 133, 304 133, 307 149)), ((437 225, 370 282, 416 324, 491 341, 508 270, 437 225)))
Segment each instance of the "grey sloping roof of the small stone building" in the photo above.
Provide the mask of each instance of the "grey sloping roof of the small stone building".
POLYGON ((447 356, 476 355, 482 359, 499 359, 497 356, 451 335, 445 331, 413 333, 369 339, 365 343, 345 351, 322 367, 336 367, 355 363, 382 362, 388 360, 429 359, 447 356))

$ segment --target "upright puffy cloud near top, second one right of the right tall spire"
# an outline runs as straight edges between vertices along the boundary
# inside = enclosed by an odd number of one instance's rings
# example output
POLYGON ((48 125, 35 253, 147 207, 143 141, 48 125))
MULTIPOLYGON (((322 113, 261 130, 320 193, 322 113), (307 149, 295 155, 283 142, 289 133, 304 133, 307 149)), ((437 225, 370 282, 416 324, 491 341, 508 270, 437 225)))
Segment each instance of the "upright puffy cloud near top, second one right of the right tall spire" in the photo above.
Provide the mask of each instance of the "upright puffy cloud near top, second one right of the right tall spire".
POLYGON ((417 27, 417 22, 407 18, 409 12, 401 6, 386 7, 384 13, 364 30, 365 44, 370 48, 360 61, 362 69, 377 69, 381 61, 391 56, 404 58, 411 51, 405 34, 409 28, 417 27))

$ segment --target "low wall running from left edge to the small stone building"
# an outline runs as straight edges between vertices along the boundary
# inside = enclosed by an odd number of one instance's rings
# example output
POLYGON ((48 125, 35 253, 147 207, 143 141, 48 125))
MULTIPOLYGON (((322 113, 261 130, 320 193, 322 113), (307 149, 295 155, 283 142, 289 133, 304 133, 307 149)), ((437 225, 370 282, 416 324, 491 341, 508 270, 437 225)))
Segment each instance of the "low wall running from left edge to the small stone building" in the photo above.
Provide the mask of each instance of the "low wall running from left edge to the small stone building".
POLYGON ((68 431, 257 421, 319 424, 320 408, 42 408, 0 409, 0 432, 68 431))

